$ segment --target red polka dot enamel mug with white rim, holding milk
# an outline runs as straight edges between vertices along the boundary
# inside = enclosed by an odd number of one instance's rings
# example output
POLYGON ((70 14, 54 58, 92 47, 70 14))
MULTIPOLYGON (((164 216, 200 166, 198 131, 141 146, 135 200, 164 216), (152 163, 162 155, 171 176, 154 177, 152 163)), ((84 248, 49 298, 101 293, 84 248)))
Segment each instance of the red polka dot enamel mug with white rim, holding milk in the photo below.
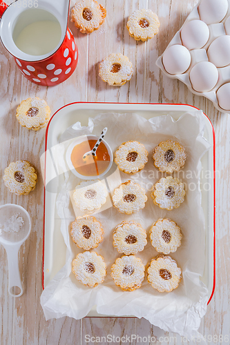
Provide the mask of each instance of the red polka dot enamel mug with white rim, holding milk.
POLYGON ((78 50, 68 28, 70 0, 0 1, 0 36, 22 75, 55 86, 77 66, 78 50), (9 1, 10 3, 11 1, 9 1))

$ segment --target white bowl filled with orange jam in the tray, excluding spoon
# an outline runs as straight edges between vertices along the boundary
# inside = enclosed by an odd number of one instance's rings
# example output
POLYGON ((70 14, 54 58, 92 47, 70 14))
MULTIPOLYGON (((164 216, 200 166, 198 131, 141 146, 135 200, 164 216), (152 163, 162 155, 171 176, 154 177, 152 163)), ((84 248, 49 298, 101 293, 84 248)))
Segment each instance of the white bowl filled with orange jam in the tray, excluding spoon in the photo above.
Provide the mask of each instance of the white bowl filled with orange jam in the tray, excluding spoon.
POLYGON ((66 150, 66 162, 73 174, 80 179, 99 179, 106 175, 113 164, 111 147, 102 139, 96 156, 84 154, 93 149, 97 142, 96 135, 77 137, 66 150))

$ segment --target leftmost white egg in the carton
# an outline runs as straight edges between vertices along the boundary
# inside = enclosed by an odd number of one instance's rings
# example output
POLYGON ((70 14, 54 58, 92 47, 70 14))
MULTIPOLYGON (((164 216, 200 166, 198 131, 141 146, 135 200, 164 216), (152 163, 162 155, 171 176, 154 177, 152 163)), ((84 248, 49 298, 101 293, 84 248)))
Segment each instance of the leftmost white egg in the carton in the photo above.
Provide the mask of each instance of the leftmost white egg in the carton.
POLYGON ((189 68, 191 55, 187 48, 175 44, 165 50, 162 63, 169 74, 180 75, 189 68))

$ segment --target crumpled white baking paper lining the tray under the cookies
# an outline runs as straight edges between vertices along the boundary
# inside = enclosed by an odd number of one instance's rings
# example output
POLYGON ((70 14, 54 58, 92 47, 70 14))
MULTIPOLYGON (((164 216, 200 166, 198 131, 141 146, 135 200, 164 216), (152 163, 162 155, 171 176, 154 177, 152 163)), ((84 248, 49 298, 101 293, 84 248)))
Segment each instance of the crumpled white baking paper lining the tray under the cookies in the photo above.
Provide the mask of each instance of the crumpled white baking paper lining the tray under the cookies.
MULTIPOLYGON (((93 306, 97 306, 97 313, 103 315, 134 315, 144 317, 151 324, 186 336, 202 337, 198 333, 200 321, 207 311, 209 293, 207 286, 201 282, 205 264, 205 225, 201 206, 201 192, 199 188, 200 159, 211 145, 204 139, 204 114, 201 110, 186 112, 177 121, 171 115, 162 115, 145 119, 133 113, 97 115, 88 120, 88 126, 82 127, 77 122, 68 128, 60 138, 57 155, 59 173, 64 172, 65 181, 57 195, 57 213, 61 218, 61 233, 67 247, 66 264, 46 286, 41 295, 41 306, 46 319, 64 316, 81 319, 85 317, 93 306), (145 168, 135 175, 119 172, 113 166, 106 175, 110 193, 120 183, 131 179, 139 183, 146 190, 148 201, 144 209, 132 215, 119 213, 113 208, 111 197, 108 196, 106 206, 99 210, 95 217, 101 221, 104 228, 104 242, 94 250, 102 255, 107 265, 107 275, 103 284, 95 288, 84 286, 75 279, 71 272, 72 261, 79 249, 70 237, 70 224, 76 216, 83 215, 73 208, 71 193, 79 183, 79 179, 69 171, 65 160, 66 148, 73 138, 93 133, 99 135, 104 127, 108 127, 105 140, 113 152, 125 141, 140 141, 148 150, 148 163, 145 168), (179 177, 186 186, 186 197, 179 208, 162 210, 151 199, 151 188, 163 176, 152 161, 152 151, 161 141, 175 139, 186 149, 186 164, 179 177), (113 231, 117 224, 124 220, 133 219, 146 229, 147 234, 151 224, 159 218, 168 217, 175 221, 182 230, 182 245, 175 253, 169 254, 182 268, 182 281, 179 287, 171 293, 159 293, 148 284, 146 278, 141 288, 132 292, 123 292, 115 286, 111 278, 111 265, 117 257, 121 257, 113 247, 113 231)), ((137 257, 146 265, 151 258, 159 253, 155 251, 147 237, 148 244, 137 257)))

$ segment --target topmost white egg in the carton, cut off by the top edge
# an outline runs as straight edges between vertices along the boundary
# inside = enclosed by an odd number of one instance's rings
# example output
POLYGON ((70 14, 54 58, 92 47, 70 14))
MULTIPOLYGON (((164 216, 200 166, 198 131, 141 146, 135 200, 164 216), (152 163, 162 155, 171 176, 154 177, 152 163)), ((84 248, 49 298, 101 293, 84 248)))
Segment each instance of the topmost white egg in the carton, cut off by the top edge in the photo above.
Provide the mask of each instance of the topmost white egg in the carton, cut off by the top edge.
POLYGON ((227 10, 227 0, 202 0, 198 6, 200 19, 207 25, 222 21, 227 14, 227 10))

